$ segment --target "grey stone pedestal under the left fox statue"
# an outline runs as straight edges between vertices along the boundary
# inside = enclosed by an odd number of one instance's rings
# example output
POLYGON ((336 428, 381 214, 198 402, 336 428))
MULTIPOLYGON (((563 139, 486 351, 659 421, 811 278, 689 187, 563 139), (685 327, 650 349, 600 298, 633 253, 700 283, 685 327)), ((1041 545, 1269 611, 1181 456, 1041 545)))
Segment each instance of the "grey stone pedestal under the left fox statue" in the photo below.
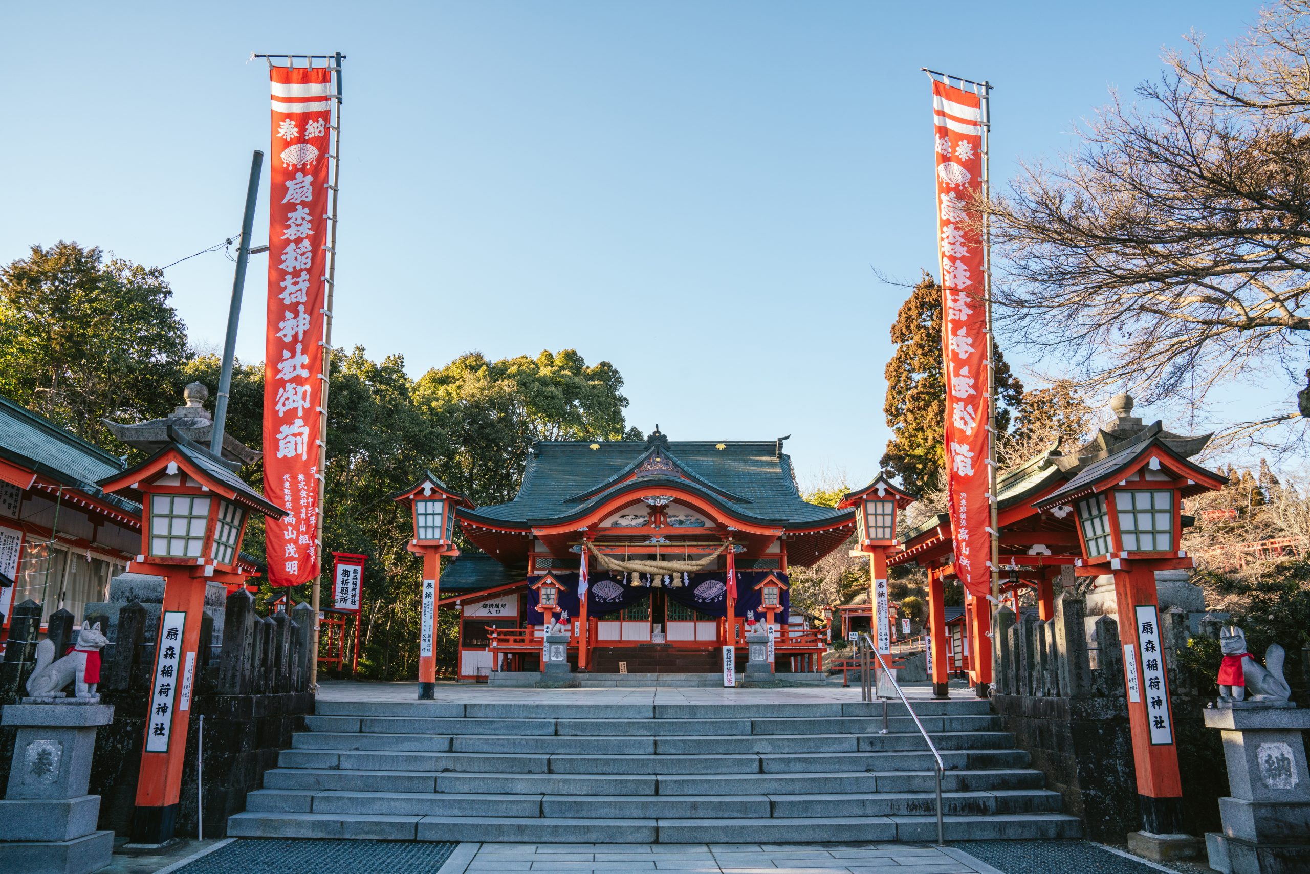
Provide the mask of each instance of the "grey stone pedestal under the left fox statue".
POLYGON ((10 704, 17 729, 9 786, 0 801, 0 871, 86 874, 110 862, 114 832, 96 831, 100 795, 88 795, 96 729, 114 708, 79 702, 10 704))

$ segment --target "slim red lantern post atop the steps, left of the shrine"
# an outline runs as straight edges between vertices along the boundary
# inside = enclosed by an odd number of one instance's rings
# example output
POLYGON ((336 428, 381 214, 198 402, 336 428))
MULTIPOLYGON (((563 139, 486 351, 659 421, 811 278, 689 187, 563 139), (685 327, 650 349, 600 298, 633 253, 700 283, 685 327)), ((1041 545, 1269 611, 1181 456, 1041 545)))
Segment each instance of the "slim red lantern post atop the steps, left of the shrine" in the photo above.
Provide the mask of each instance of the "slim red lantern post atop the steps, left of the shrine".
POLYGON ((407 504, 414 519, 409 550, 423 557, 422 604, 419 607, 418 697, 436 696, 436 599, 441 588, 441 556, 455 557, 455 510, 472 506, 468 498, 445 487, 431 470, 409 489, 392 495, 407 504))

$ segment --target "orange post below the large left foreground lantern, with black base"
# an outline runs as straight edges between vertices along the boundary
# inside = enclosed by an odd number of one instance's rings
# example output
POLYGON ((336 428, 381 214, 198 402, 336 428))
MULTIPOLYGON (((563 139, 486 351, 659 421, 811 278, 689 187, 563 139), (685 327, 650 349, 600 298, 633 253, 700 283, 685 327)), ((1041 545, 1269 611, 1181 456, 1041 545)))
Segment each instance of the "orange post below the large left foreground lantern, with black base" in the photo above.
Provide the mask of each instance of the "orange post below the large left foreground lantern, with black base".
POLYGON ((194 567, 140 567, 165 577, 164 603, 156 638, 152 687, 145 722, 141 770, 136 781, 131 843, 164 844, 173 839, 177 799, 186 760, 186 730, 191 717, 195 672, 199 670, 200 617, 204 612, 204 577, 194 567), (165 630, 166 629, 166 630, 165 630), (155 751, 152 751, 152 748, 155 751))

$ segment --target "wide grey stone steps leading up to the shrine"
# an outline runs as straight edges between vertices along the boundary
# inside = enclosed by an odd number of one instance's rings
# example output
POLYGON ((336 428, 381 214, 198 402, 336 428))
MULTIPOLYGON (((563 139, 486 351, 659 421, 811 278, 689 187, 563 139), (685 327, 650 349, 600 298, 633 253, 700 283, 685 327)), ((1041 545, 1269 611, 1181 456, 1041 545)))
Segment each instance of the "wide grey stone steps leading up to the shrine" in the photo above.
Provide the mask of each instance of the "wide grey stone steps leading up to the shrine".
MULTIPOLYGON (((914 704, 947 840, 1079 833, 988 701, 914 704)), ((320 701, 229 819, 244 837, 527 843, 935 840, 900 702, 320 701)))

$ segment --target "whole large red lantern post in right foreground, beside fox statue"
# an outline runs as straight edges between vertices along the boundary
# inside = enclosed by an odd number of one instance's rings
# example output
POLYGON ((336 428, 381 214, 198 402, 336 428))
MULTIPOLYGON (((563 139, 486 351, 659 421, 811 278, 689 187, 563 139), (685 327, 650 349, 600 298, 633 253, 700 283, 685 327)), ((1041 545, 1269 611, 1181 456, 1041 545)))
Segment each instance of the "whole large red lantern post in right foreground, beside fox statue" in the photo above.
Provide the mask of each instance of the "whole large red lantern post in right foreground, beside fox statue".
POLYGON ((1179 549, 1182 499, 1218 489, 1225 478, 1170 449, 1159 440, 1159 423, 1138 439, 1137 447, 1090 464, 1035 506, 1072 504, 1082 544, 1074 573, 1115 579, 1142 831, 1179 835, 1183 791, 1155 571, 1192 567, 1179 549))

